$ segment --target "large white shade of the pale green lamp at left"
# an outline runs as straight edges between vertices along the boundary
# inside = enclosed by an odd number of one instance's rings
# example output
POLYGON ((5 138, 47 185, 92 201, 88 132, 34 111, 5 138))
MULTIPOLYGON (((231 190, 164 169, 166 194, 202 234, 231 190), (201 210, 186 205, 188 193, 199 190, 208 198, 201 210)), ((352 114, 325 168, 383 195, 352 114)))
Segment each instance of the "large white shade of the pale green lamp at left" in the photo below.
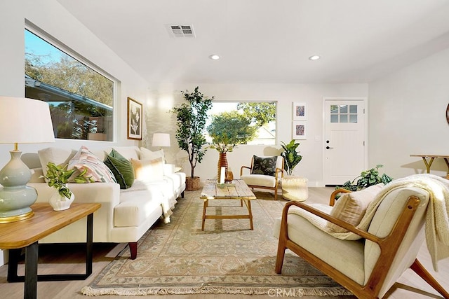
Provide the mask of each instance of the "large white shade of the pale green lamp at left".
POLYGON ((54 142, 48 104, 37 99, 0 97, 0 144, 54 142))

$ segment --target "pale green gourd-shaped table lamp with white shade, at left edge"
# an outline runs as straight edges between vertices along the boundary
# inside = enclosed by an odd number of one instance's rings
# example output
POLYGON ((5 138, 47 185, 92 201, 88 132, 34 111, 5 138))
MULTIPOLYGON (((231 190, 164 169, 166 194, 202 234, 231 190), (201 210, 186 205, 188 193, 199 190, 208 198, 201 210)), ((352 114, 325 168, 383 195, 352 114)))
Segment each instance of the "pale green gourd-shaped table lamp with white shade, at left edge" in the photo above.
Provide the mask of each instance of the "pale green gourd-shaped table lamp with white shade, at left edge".
MULTIPOLYGON (((48 104, 36 99, 0 97, 0 144, 14 144, 11 160, 0 170, 0 223, 34 215, 29 207, 37 199, 36 190, 27 186, 31 171, 20 159, 18 144, 54 142, 48 104)), ((0 224, 1 225, 1 224, 0 224)), ((0 226, 1 227, 1 226, 0 226)))

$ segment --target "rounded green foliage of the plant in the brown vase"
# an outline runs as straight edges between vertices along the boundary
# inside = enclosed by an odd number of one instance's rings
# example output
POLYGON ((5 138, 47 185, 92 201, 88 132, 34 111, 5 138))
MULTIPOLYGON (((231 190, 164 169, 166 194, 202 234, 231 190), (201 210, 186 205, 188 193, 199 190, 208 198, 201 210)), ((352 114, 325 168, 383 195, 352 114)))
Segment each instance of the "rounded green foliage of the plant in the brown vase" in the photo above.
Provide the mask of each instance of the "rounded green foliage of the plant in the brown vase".
POLYGON ((254 139, 257 127, 251 126, 251 120, 238 111, 230 111, 212 116, 207 131, 212 138, 209 147, 226 153, 232 151, 237 144, 246 144, 254 139))

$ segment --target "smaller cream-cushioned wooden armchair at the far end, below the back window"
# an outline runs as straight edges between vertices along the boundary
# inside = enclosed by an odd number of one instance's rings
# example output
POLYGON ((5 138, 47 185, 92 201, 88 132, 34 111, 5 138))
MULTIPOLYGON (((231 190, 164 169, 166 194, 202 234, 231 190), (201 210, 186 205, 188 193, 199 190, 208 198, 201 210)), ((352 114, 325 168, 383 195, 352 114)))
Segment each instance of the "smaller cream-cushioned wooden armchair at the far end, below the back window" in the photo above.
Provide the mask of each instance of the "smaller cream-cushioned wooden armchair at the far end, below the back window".
MULTIPOLYGON (((256 157, 259 158, 259 157, 256 157)), ((260 157, 269 158, 269 157, 260 157)), ((278 199, 279 181, 283 177, 283 158, 277 156, 276 169, 274 169, 274 176, 266 174, 253 174, 255 156, 251 159, 251 166, 242 166, 240 168, 240 179, 245 181, 246 185, 250 188, 262 188, 274 190, 274 200, 278 199), (244 169, 249 169, 249 174, 243 174, 244 169)), ((248 173, 248 171, 246 171, 248 173)))

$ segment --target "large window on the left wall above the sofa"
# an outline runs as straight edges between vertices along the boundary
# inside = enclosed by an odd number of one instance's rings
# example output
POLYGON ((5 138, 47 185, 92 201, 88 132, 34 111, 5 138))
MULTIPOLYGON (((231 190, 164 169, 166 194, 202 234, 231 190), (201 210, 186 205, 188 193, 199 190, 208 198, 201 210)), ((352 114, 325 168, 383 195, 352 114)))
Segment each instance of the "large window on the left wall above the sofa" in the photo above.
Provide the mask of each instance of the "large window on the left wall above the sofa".
POLYGON ((48 102, 56 138, 113 140, 114 81, 28 29, 25 97, 48 102))

